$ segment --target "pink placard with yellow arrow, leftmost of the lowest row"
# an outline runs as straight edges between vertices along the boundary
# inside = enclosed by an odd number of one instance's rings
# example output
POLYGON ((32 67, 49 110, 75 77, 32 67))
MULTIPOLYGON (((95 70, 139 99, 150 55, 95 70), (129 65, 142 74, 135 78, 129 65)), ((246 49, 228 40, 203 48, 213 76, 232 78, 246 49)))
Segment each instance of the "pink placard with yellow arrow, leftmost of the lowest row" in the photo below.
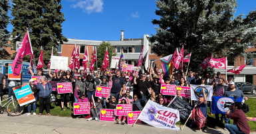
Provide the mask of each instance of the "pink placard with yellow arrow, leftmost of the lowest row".
POLYGON ((90 114, 90 102, 74 103, 74 115, 90 114))

